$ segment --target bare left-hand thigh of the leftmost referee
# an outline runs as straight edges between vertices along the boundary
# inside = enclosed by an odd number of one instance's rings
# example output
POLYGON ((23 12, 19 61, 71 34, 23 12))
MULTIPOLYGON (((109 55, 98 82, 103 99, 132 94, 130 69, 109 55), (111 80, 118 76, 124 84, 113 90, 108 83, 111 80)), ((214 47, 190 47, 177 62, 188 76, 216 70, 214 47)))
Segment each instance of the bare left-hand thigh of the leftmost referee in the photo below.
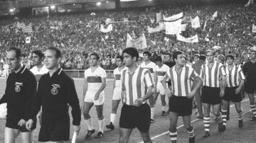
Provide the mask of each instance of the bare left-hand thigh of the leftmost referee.
POLYGON ((5 127, 4 129, 4 142, 15 143, 16 137, 18 137, 19 130, 5 127))

